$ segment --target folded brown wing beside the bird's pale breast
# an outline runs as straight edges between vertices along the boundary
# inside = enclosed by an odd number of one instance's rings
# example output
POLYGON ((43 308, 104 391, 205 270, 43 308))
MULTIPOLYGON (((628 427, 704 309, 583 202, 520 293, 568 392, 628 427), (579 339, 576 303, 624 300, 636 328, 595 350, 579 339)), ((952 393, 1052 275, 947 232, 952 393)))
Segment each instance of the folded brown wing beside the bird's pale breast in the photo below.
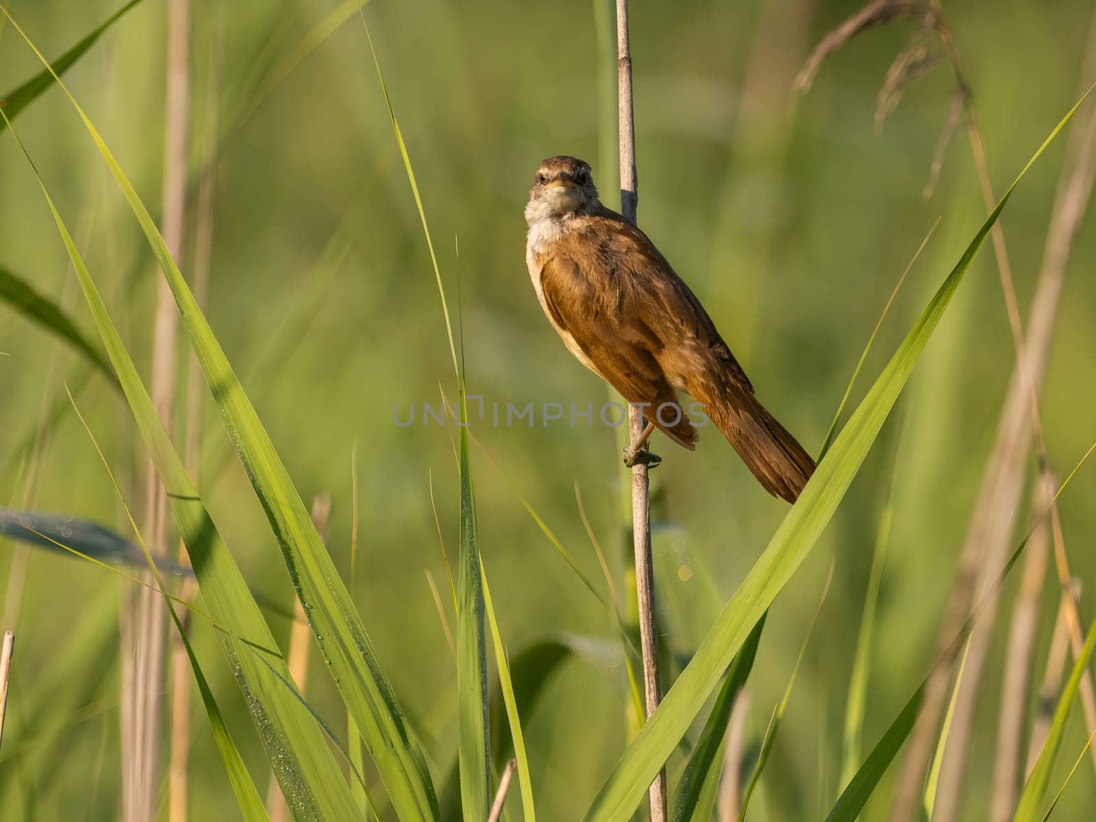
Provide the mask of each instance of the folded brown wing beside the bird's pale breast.
MULTIPOLYGON (((578 238, 575 238, 578 239, 578 238)), ((642 295, 620 287, 589 242, 557 244, 540 271, 545 305, 560 332, 570 335, 594 369, 630 403, 650 403, 644 414, 671 439, 693 449, 698 439, 657 356, 663 343, 647 326, 642 295), (663 403, 676 410, 657 413, 663 403), (663 422, 665 421, 665 422, 663 422)))

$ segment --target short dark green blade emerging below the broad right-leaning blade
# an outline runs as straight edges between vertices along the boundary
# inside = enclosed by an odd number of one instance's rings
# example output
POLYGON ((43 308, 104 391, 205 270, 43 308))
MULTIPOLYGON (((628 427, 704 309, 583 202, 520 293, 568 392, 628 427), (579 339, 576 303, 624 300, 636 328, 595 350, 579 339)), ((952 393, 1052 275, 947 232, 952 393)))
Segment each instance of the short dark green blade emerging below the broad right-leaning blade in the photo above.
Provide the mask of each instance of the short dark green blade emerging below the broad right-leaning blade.
POLYGON ((766 616, 767 614, 762 615, 742 644, 742 650, 734 655, 727 678, 723 680, 723 686, 711 706, 711 713, 704 723, 700 739, 693 749, 693 755, 677 785, 672 814, 674 822, 689 820, 703 822, 712 818, 719 776, 723 767, 723 751, 727 747, 727 726, 731 718, 731 709, 734 707, 734 699, 742 692, 753 670, 766 616))

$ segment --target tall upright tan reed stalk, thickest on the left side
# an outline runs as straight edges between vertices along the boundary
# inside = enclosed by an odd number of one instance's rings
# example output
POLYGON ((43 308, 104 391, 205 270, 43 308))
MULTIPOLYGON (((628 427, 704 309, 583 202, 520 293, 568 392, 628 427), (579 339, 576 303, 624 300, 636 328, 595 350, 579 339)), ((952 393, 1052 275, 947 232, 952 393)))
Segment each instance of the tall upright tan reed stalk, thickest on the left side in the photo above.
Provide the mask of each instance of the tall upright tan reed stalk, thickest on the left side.
MULTIPOLYGON (((190 72, 190 0, 168 3, 167 88, 164 92, 163 210, 161 233, 168 250, 180 260, 186 206, 186 123, 190 72)), ((165 279, 159 279, 152 328, 151 397, 164 427, 171 431, 175 392, 175 332, 179 315, 165 279)), ((146 464, 145 534, 149 549, 167 555, 168 501, 151 459, 146 464)), ((124 822, 146 822, 156 814, 162 735, 161 692, 164 678, 167 613, 160 594, 146 572, 142 586, 130 600, 125 618, 134 639, 133 677, 122 696, 123 813, 124 822)), ((125 683, 126 680, 124 678, 125 683)))

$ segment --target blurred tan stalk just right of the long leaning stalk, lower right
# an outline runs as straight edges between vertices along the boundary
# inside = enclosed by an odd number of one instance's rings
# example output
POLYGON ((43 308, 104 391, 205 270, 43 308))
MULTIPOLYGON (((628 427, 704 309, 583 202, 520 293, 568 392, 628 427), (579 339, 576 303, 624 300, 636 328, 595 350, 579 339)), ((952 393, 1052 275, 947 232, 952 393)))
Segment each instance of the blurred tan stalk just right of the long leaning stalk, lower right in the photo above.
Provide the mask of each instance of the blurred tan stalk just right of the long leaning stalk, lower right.
POLYGON ((1039 597, 1047 578, 1047 560, 1050 552, 1050 515, 1047 506, 1054 495, 1055 484, 1053 475, 1049 470, 1043 470, 1039 478, 1038 492, 1032 499, 1031 510, 1039 520, 1024 551, 1024 572, 1019 590, 1016 592, 1012 624, 1008 628, 1008 648, 1005 652, 1004 681, 1001 686, 1001 708, 997 719, 991 822, 1008 822, 1016 811, 1016 788, 1019 783, 1031 654, 1035 651, 1036 631, 1039 627, 1039 597))

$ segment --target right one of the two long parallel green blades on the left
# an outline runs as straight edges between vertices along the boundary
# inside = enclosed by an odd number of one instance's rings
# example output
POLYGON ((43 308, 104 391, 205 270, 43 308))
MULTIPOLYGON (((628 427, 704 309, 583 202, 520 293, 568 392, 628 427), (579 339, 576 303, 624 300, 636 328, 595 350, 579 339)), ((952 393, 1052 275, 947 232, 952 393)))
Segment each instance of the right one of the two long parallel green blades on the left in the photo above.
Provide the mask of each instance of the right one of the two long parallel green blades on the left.
MULTIPOLYGON (((14 20, 10 15, 8 19, 38 58, 45 62, 41 52, 34 47, 14 20)), ((106 161, 160 264, 179 306, 206 383, 220 408, 232 444, 282 549, 297 596, 319 640, 320 652, 340 687, 343 700, 354 715, 354 721, 363 733, 393 808, 404 819, 436 819, 437 800, 414 732, 403 717, 403 711, 377 660, 373 643, 362 625, 350 593, 340 579, 308 510, 225 357, 209 323, 202 315, 194 295, 172 260, 148 209, 145 208, 133 184, 76 98, 64 82, 59 79, 57 82, 106 161)), ((114 361, 113 355, 112 361, 114 361)), ((115 369, 117 367, 115 362, 115 369)), ((130 403, 133 404, 132 399, 130 403)), ((159 430, 162 432, 162 426, 159 430)), ((169 488, 181 484, 171 473, 165 475, 159 466, 158 469, 169 488)), ((190 512, 185 505, 182 507, 190 512)), ((193 512, 190 514, 193 516, 193 512)), ((204 509, 201 514, 205 515, 204 509)), ((195 521, 193 525, 201 524, 195 521)), ((198 581, 201 583, 201 576, 198 581)), ((239 633, 247 636, 242 631, 239 633)), ((342 783, 342 792, 345 792, 345 783, 342 783)), ((349 798, 349 792, 346 796, 349 798)), ((289 804, 293 804, 292 800, 289 804)))

